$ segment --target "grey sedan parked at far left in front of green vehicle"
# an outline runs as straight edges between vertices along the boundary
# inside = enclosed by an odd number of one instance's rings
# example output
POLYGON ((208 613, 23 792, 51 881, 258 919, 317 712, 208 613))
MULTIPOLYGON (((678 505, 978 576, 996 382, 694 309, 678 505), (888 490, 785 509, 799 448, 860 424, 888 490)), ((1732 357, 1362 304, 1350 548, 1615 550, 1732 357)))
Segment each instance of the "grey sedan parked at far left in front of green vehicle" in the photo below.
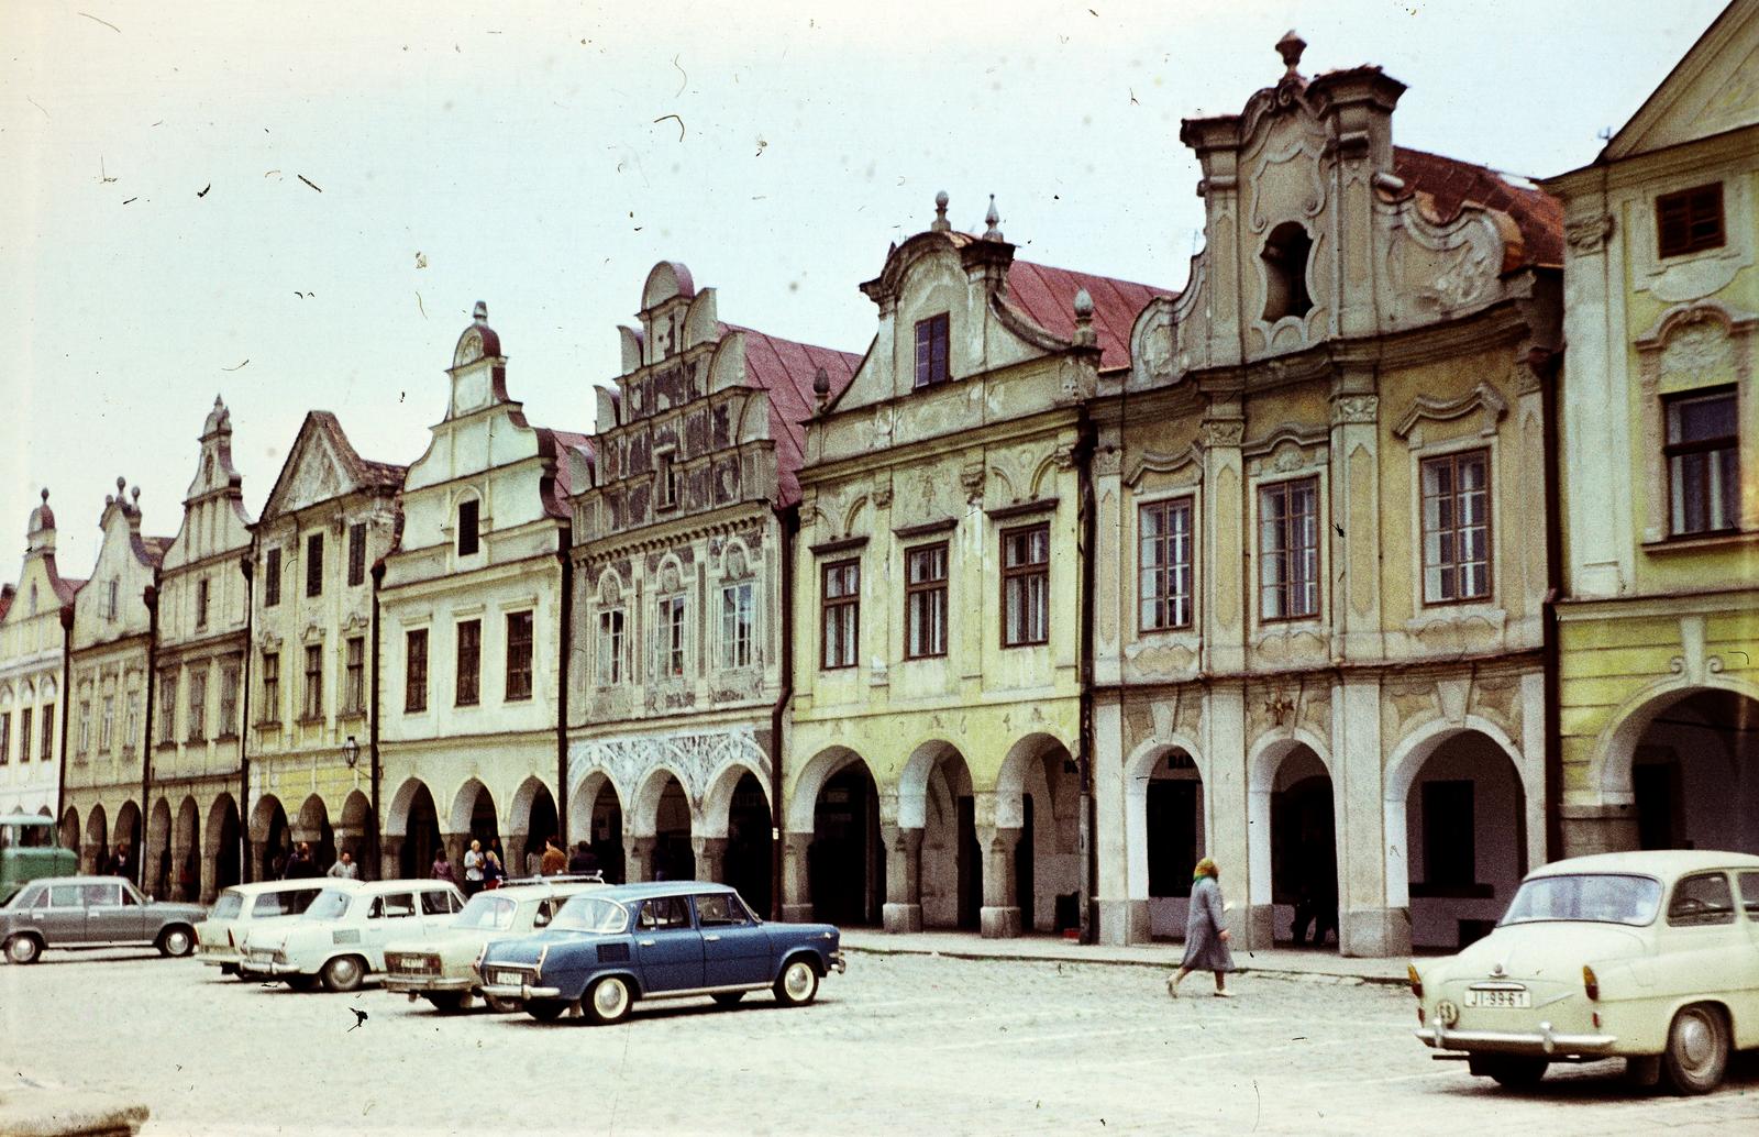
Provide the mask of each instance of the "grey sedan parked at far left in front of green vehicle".
POLYGON ((32 880, 0 908, 0 952, 35 963, 46 947, 128 947, 188 956, 201 905, 157 903, 121 877, 32 880))

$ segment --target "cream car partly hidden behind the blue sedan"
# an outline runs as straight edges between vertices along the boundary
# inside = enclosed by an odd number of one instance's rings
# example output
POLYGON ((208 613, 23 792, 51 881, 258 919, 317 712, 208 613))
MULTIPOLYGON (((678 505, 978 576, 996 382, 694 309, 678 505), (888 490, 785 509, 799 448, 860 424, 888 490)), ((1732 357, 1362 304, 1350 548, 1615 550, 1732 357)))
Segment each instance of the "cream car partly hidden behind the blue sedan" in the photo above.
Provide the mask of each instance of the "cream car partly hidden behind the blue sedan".
MULTIPOLYGON (((385 989, 406 991, 412 1001, 426 998, 440 1010, 464 1010, 482 994, 475 963, 489 943, 549 928, 570 896, 600 887, 596 877, 547 877, 477 892, 445 931, 385 945, 385 989)), ((498 998, 487 1003, 503 1014, 519 1009, 498 998)))

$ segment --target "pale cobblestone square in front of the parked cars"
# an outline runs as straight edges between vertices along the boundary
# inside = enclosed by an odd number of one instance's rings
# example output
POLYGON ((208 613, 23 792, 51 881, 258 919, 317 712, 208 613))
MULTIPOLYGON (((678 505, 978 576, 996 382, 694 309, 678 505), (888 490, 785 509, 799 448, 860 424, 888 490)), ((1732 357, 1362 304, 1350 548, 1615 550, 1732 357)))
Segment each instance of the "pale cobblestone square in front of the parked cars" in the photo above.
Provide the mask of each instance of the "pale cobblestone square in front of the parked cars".
POLYGON ((1532 1093, 1432 1061, 1402 989, 1147 966, 851 954, 820 1001, 639 1010, 619 1028, 440 1016, 368 987, 296 994, 139 952, 0 966, 7 1086, 150 1104, 144 1133, 1727 1133, 1724 1089, 1632 1089, 1618 1063, 1532 1093), (357 1023, 354 1010, 368 1019, 357 1023))

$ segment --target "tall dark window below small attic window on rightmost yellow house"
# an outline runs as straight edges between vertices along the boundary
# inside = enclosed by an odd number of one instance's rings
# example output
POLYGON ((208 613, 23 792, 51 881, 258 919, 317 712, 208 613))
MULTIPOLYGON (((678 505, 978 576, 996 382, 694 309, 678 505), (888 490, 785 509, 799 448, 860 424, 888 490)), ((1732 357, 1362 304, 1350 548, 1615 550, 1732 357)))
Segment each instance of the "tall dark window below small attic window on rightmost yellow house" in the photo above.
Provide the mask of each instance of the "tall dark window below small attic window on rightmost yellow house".
POLYGON ((1733 389, 1668 400, 1669 528, 1675 537, 1736 528, 1741 498, 1740 419, 1733 389))

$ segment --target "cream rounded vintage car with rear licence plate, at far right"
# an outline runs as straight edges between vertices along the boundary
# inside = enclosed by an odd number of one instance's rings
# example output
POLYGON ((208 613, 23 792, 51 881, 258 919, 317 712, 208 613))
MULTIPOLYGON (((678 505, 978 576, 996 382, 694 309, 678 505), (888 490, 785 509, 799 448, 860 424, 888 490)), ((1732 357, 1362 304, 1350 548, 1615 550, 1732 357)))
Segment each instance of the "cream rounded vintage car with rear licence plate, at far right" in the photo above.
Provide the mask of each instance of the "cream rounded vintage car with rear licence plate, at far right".
POLYGON ((1546 864, 1488 936, 1412 963, 1411 991, 1418 1038, 1504 1086, 1553 1061, 1625 1058, 1639 1082, 1706 1093, 1731 1049, 1759 1047, 1759 857, 1546 864))

